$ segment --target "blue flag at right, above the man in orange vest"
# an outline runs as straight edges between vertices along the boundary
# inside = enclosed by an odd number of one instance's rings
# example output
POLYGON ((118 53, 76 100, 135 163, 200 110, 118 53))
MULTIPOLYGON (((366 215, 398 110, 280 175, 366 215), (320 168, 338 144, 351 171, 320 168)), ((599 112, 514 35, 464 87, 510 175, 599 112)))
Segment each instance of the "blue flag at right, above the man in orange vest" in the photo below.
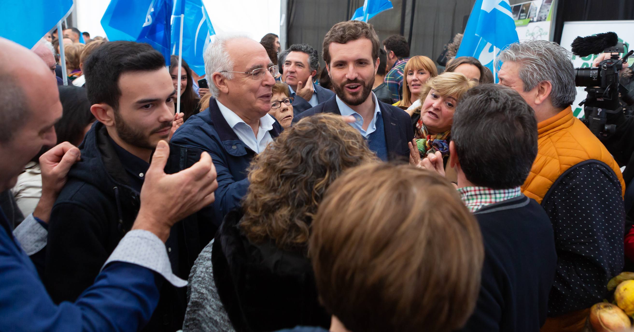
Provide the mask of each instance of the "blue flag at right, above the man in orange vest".
MULTIPOLYGON (((508 44, 519 41, 508 0, 477 0, 467 21, 458 56, 473 56, 493 71, 493 60, 508 44), (494 47, 495 46, 495 47, 494 47)), ((495 77, 497 82, 497 77, 495 77)))

